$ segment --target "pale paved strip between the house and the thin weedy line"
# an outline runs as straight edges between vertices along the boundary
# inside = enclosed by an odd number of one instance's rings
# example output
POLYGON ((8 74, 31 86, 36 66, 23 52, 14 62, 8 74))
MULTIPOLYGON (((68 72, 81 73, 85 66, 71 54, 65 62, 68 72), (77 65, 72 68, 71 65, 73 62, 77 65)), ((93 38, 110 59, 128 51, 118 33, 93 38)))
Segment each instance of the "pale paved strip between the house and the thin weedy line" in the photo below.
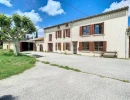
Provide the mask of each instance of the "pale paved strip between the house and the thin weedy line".
POLYGON ((53 64, 69 66, 83 72, 98 74, 105 77, 130 81, 130 60, 88 57, 78 55, 65 55, 56 53, 28 52, 44 57, 40 61, 49 61, 53 64))

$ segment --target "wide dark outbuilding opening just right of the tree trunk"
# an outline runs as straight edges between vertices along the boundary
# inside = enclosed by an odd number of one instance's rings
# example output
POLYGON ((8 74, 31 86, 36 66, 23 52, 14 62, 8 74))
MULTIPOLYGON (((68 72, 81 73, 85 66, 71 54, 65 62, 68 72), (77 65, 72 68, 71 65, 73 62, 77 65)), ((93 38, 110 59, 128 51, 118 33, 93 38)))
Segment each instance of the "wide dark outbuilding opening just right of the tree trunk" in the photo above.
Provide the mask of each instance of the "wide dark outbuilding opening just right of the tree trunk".
POLYGON ((33 45, 34 43, 30 42, 22 42, 22 51, 33 51, 33 45))

